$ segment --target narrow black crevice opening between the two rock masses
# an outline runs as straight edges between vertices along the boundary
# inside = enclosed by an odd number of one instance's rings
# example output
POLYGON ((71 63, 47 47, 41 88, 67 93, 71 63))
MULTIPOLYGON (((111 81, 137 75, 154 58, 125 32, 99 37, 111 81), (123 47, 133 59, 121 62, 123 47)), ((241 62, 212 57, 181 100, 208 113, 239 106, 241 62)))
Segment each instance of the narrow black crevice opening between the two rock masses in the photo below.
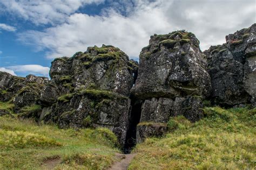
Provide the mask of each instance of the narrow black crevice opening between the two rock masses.
POLYGON ((125 145, 123 152, 125 154, 130 153, 132 148, 136 145, 136 130, 140 121, 140 115, 142 112, 143 101, 132 99, 131 100, 131 114, 129 118, 129 127, 126 132, 125 145))

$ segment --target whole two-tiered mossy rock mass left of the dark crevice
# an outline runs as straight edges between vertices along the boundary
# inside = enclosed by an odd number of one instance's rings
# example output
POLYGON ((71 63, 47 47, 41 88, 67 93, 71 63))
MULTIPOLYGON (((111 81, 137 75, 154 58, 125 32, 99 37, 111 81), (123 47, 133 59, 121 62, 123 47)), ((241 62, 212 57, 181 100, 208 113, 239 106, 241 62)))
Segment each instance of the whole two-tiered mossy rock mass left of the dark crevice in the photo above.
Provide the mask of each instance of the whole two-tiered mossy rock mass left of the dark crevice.
POLYGON ((138 62, 113 46, 88 47, 72 58, 57 58, 50 70, 52 79, 41 93, 39 119, 60 128, 103 126, 123 146, 137 72, 138 62))

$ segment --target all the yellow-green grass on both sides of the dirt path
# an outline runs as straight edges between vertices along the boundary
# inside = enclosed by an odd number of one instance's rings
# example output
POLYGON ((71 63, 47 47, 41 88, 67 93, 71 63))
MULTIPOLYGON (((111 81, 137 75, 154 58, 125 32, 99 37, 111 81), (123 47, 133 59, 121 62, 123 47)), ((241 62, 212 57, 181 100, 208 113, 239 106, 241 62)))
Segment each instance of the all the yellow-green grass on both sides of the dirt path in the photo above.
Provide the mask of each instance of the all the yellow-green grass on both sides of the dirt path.
MULTIPOLYGON (((129 169, 255 169, 256 109, 205 108, 190 123, 171 118, 170 132, 148 138, 129 169)), ((107 169, 119 158, 117 138, 107 129, 58 129, 0 117, 0 169, 107 169)))

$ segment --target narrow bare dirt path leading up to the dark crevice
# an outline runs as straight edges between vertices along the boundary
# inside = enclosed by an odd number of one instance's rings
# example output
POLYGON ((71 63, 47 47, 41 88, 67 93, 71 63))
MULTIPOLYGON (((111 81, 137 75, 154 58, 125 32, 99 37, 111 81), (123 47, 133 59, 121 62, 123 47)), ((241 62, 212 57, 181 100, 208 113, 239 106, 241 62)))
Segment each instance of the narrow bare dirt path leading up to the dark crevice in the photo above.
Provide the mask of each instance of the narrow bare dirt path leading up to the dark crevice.
POLYGON ((132 154, 117 154, 118 157, 123 158, 120 162, 116 162, 109 170, 126 170, 136 153, 132 154))

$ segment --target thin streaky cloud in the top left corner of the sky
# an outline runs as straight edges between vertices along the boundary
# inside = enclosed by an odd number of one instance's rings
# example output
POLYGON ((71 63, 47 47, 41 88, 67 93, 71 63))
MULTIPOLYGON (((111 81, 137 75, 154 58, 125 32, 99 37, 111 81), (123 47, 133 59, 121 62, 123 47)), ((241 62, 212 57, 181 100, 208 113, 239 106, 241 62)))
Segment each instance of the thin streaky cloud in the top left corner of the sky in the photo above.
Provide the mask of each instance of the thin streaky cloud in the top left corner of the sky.
POLYGON ((0 11, 9 12, 15 17, 38 24, 56 24, 65 21, 66 16, 75 12, 80 6, 102 3, 104 0, 4 0, 0 1, 0 11))

